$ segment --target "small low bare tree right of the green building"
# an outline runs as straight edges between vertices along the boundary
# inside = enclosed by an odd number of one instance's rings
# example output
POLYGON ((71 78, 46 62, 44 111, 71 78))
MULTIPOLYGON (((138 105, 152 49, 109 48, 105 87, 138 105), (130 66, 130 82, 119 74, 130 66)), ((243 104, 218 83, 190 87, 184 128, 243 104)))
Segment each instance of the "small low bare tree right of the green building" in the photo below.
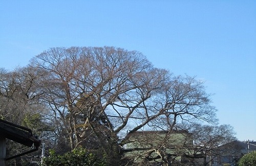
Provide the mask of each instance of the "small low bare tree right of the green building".
POLYGON ((218 147, 236 139, 235 133, 230 125, 209 126, 194 124, 190 128, 194 144, 188 148, 185 156, 191 162, 208 165, 215 157, 228 152, 218 147))

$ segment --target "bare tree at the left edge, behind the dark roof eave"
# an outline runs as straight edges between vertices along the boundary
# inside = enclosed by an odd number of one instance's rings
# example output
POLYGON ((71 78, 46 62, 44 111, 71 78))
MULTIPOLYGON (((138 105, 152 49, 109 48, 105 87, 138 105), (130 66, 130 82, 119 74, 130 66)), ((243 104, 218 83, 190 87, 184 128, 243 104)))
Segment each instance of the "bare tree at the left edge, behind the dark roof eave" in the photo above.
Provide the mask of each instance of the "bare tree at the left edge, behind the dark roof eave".
MULTIPOLYGON (((0 71, 0 118, 29 127, 40 139, 51 137, 50 124, 47 124, 46 107, 38 103, 38 80, 41 76, 33 68, 16 68, 12 72, 0 71)), ((7 140, 7 156, 24 152, 28 147, 7 140)), ((39 152, 40 153, 40 152, 39 152)), ((38 155, 36 153, 33 153, 38 155)), ((26 155, 7 162, 8 165, 25 165, 31 158, 26 155)))

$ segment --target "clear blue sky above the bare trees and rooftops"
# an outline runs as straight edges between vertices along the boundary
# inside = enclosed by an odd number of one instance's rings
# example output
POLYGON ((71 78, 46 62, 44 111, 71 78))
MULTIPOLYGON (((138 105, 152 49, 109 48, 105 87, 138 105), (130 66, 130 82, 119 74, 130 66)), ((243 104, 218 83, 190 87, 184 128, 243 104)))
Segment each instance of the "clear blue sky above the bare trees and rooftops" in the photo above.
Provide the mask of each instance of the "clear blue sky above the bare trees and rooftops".
POLYGON ((104 45, 204 80, 220 124, 256 140, 256 1, 0 0, 0 67, 56 46, 104 45))

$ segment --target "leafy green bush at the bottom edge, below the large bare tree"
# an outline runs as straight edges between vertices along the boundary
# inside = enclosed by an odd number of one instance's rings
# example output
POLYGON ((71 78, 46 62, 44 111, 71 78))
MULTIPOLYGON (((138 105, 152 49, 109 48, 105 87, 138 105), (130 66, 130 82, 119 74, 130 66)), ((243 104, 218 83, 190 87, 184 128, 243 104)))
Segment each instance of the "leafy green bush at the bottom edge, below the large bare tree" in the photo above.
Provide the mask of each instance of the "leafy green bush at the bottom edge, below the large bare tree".
POLYGON ((77 148, 63 155, 57 155, 53 150, 44 159, 42 166, 105 166, 105 158, 98 158, 84 148, 77 148))

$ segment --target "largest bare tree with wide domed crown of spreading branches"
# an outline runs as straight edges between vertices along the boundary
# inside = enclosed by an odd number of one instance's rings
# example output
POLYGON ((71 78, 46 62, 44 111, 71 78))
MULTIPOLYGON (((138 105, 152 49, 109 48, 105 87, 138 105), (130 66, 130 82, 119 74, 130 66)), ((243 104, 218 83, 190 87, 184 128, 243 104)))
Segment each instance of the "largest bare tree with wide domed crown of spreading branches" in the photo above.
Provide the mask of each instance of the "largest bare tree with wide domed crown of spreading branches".
POLYGON ((109 156, 120 158, 120 147, 143 127, 172 129, 177 121, 215 121, 216 109, 202 82, 172 77, 136 51, 52 48, 31 66, 47 73, 40 100, 51 108, 71 149, 89 140, 90 133, 109 156))

